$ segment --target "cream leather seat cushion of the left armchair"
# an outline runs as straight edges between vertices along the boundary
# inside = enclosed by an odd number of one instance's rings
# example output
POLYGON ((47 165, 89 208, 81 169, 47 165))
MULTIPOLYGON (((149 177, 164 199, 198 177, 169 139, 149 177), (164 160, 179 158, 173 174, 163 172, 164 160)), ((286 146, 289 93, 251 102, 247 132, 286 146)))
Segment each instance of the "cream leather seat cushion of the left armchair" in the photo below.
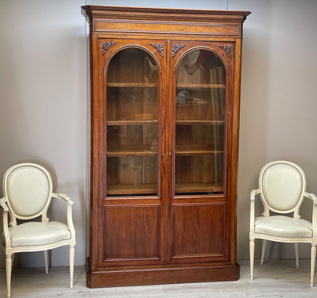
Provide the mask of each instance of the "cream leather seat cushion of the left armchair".
MULTIPOLYGON (((71 238, 67 224, 56 221, 29 222, 9 227, 11 247, 40 246, 71 238)), ((4 243, 4 233, 2 233, 4 243)))

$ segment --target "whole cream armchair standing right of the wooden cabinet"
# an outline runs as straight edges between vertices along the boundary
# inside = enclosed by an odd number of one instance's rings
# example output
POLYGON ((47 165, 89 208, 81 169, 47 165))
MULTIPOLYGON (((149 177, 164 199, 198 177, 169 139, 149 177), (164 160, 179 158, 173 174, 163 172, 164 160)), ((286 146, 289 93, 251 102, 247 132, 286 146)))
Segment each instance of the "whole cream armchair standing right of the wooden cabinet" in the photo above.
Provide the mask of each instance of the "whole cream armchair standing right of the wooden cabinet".
POLYGON ((306 178, 302 169, 288 161, 274 161, 265 165, 259 176, 259 189, 251 191, 250 214, 250 269, 253 280, 254 240, 263 239, 261 264, 263 264, 267 240, 291 242, 295 245, 296 268, 298 262, 298 243, 311 243, 311 278, 314 285, 314 268, 317 245, 317 198, 306 192, 306 178), (261 217, 254 218, 254 200, 260 194, 264 205, 261 217), (312 223, 301 219, 299 209, 303 197, 313 201, 312 223), (270 216, 269 211, 285 214, 294 212, 293 217, 270 216))

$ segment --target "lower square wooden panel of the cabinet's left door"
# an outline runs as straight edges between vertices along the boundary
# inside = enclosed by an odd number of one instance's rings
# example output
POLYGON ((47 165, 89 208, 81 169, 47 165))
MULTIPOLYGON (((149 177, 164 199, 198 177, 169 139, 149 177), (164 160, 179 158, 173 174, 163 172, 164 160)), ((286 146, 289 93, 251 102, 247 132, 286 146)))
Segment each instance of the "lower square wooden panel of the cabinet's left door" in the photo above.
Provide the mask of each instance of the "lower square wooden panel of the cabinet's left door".
POLYGON ((161 264, 160 206, 104 206, 101 266, 161 264))

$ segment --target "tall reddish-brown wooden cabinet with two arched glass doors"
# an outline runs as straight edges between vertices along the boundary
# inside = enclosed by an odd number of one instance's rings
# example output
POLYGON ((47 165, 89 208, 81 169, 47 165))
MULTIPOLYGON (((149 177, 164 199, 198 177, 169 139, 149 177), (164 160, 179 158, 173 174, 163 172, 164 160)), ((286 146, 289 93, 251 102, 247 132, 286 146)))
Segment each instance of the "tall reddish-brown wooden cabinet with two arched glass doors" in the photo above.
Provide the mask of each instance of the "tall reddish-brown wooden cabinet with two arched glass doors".
POLYGON ((249 13, 82 7, 91 71, 88 287, 239 279, 249 13))

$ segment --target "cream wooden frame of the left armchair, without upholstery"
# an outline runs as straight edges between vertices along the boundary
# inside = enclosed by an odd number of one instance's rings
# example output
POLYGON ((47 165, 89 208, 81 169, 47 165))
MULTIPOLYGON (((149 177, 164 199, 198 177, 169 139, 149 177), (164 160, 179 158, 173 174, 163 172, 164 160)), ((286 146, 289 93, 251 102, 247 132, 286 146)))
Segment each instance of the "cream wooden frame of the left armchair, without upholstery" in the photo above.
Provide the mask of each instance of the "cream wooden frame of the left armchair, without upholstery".
POLYGON ((3 245, 3 250, 5 252, 5 267, 6 267, 6 276, 7 276, 7 297, 10 297, 10 284, 11 284, 11 271, 15 253, 17 252, 27 252, 27 251, 44 251, 44 261, 45 261, 45 272, 48 273, 48 250, 57 248, 63 245, 69 245, 69 268, 70 268, 70 288, 73 288, 73 275, 74 275, 74 247, 76 244, 75 240, 75 229, 72 219, 72 205, 73 201, 68 197, 68 195, 64 193, 54 193, 52 192, 52 178, 49 172, 40 165, 33 163, 23 163, 10 167, 8 171, 4 174, 3 177, 3 195, 4 197, 0 199, 0 207, 3 211, 3 231, 4 231, 4 239, 5 245, 3 245), (36 214, 25 216, 17 214, 17 212, 13 209, 10 198, 8 196, 8 177, 10 173, 16 170, 19 167, 30 166, 40 169, 47 177, 49 184, 49 194, 47 201, 43 207, 43 209, 36 214), (48 222, 49 218, 47 217, 47 210, 51 201, 51 198, 59 198, 62 201, 67 203, 67 224, 68 230, 70 231, 70 238, 57 241, 54 243, 48 243, 43 245, 34 245, 34 246, 16 246, 12 247, 11 239, 9 234, 9 226, 16 226, 16 218, 26 220, 33 219, 38 216, 42 216, 42 222, 48 222), (8 224, 8 213, 10 215, 10 223, 8 224))

